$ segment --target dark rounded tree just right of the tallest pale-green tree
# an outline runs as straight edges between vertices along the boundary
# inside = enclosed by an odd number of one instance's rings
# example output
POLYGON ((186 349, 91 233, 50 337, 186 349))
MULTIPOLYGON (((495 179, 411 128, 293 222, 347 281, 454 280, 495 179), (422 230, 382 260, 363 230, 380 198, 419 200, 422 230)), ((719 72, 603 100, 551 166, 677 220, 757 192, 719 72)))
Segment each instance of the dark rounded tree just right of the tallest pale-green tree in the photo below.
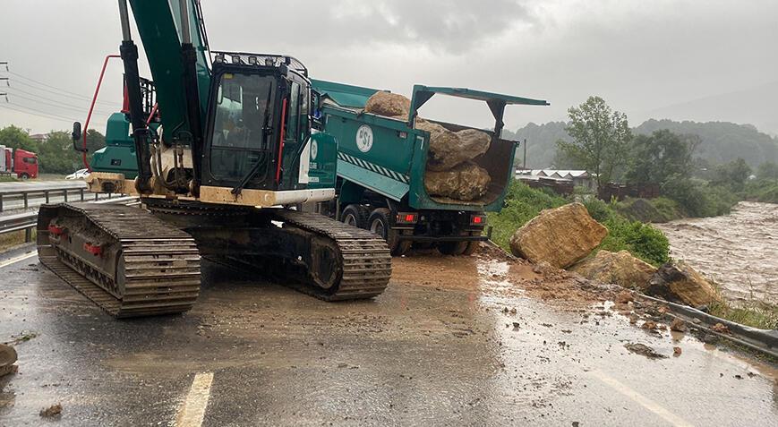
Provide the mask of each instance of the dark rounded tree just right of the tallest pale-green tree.
POLYGON ((628 183, 663 185, 671 177, 688 178, 693 169, 692 154, 699 142, 697 135, 680 136, 666 129, 637 135, 630 149, 625 179, 628 183))

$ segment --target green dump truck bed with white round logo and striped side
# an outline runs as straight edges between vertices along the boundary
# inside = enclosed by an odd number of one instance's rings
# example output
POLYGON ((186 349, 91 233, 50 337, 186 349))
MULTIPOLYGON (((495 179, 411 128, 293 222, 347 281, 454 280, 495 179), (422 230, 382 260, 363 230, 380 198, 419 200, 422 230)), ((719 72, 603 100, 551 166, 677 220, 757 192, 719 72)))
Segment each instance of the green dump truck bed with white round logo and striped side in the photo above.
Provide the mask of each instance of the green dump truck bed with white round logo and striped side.
MULTIPOLYGON (((379 90, 316 80, 313 81, 313 88, 321 97, 321 121, 324 128, 338 140, 339 177, 360 184, 393 201, 406 199, 408 206, 413 209, 501 209, 512 179, 511 170, 517 142, 494 138, 494 132, 479 129, 492 137, 489 150, 474 158, 474 162, 488 170, 492 176, 486 194, 474 201, 431 196, 424 186, 430 133, 414 129, 410 125, 415 109, 412 109, 407 118, 374 115, 365 113, 363 109, 367 100, 379 90)), ((423 89, 426 87, 416 86, 415 95, 423 93, 423 89)), ((440 93, 437 90, 457 90, 433 89, 436 90, 434 93, 440 93)), ((487 92, 459 91, 466 95, 500 97, 487 92)), ((423 101, 421 103, 423 104, 423 101)), ((435 123, 452 132, 468 129, 457 124, 435 123)))

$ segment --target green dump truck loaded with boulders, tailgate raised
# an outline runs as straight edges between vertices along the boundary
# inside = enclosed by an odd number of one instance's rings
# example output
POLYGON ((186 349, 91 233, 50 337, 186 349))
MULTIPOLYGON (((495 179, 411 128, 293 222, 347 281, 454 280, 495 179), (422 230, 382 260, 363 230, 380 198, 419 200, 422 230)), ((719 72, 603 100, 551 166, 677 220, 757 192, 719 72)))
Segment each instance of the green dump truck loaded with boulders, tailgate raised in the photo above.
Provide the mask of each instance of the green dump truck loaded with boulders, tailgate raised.
MULTIPOLYGON (((408 116, 392 118, 364 112, 378 90, 317 80, 312 87, 319 128, 338 140, 337 197, 318 209, 382 235, 395 255, 413 244, 437 246, 446 254, 470 254, 478 242, 487 240, 491 228, 486 226, 484 212, 502 208, 513 179, 517 142, 500 138, 505 107, 549 105, 544 100, 479 90, 415 85, 408 116), (488 191, 476 200, 436 197, 425 188, 430 132, 415 129, 414 124, 418 109, 435 94, 483 101, 492 110, 494 129, 484 131, 492 141, 488 151, 474 158, 492 180, 488 191)), ((452 132, 467 129, 434 123, 452 132)), ((312 169, 316 167, 314 154, 312 169)))

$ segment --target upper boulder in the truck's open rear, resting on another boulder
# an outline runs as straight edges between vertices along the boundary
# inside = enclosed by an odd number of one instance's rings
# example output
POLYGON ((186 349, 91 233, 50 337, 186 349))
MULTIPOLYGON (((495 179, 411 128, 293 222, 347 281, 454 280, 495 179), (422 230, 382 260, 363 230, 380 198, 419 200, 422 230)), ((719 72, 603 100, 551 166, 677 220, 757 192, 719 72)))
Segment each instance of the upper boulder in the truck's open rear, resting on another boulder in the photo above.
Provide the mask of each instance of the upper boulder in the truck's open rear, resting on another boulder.
POLYGON ((430 132, 430 150, 427 169, 447 171, 477 158, 489 149, 492 138, 486 132, 465 129, 451 132, 440 124, 416 119, 416 129, 430 132))

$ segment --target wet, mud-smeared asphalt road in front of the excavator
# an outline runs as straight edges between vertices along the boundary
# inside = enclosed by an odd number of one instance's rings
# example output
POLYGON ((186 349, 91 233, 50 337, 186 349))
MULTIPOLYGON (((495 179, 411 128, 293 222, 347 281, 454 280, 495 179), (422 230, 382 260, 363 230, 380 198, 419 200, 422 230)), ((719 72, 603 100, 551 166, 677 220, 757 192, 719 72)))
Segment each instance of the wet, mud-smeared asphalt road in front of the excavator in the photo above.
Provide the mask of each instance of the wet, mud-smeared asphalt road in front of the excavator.
POLYGON ((358 303, 205 264, 192 312, 116 321, 37 258, 0 259, 0 342, 35 335, 0 379, 0 425, 175 425, 202 372, 203 425, 778 423, 772 367, 615 313, 505 295, 477 261, 396 259, 387 292, 358 303), (461 281, 411 283, 427 262, 461 281), (38 416, 56 403, 61 415, 38 416))

